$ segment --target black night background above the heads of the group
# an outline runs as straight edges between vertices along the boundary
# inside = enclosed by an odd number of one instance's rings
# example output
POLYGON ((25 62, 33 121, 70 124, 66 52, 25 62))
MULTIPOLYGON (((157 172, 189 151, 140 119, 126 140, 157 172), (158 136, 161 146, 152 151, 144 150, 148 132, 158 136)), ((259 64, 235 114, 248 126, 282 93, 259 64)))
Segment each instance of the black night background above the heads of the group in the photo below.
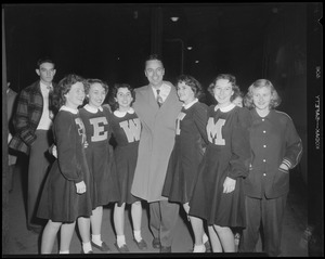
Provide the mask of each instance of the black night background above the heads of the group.
MULTIPOLYGON (((181 74, 182 41, 184 73, 205 87, 231 73, 245 90, 289 59, 306 69, 306 11, 304 3, 5 4, 8 79, 15 89, 26 87, 37 79, 38 57, 50 55, 56 81, 77 73, 139 87, 146 83, 143 61, 156 50, 173 81, 181 74)), ((285 88, 284 74, 270 80, 285 88)))

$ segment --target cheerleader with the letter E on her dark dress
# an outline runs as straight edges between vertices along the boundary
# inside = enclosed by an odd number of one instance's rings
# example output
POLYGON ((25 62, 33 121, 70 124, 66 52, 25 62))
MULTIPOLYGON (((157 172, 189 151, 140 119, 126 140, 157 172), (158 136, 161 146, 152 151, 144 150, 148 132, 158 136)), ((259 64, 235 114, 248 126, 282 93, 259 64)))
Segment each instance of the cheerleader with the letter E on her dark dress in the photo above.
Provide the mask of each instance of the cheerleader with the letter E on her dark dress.
POLYGON ((102 106, 107 93, 108 86, 105 82, 88 79, 86 81, 88 103, 79 109, 89 144, 86 150, 87 163, 94 183, 91 194, 93 208, 90 217, 91 244, 105 252, 109 251, 109 248, 101 237, 103 206, 119 199, 113 146, 108 142, 112 135, 108 121, 110 112, 106 106, 102 106))

